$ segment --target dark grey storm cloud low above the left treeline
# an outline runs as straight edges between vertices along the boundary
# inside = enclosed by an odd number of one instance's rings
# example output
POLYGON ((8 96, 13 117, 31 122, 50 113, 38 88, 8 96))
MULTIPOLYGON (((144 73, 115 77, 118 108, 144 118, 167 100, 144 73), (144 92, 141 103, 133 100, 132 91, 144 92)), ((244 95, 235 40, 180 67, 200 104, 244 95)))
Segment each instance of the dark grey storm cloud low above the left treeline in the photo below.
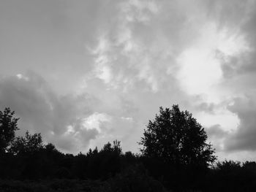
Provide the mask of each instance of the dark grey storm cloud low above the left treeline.
POLYGON ((63 150, 78 150, 87 146, 98 131, 86 129, 83 118, 91 113, 94 98, 57 96, 48 82, 33 72, 3 77, 0 80, 0 107, 10 107, 20 117, 20 133, 42 133, 45 141, 53 142, 63 150), (70 145, 72 144, 72 145, 70 145))

